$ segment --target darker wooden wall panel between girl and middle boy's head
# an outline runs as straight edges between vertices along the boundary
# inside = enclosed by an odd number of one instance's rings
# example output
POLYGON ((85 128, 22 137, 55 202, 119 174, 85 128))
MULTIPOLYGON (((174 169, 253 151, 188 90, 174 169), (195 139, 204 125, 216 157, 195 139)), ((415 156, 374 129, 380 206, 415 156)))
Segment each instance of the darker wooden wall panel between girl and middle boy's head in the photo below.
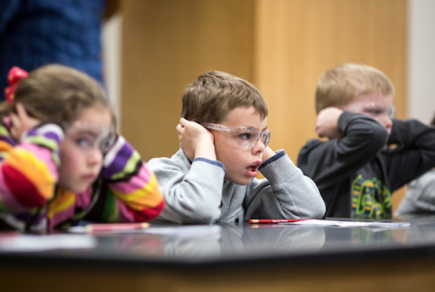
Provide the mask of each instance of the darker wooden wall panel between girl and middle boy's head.
POLYGON ((145 160, 179 150, 184 87, 203 72, 253 76, 249 0, 122 2, 121 132, 145 160))

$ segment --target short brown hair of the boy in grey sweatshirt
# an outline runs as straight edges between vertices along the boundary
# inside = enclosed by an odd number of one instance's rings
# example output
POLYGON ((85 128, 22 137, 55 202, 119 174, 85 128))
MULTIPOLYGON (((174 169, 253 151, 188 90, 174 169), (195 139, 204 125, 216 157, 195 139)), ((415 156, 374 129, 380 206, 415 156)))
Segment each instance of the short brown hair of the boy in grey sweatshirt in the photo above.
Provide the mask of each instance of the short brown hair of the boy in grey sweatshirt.
POLYGON ((254 85, 237 76, 211 71, 202 73, 183 94, 181 116, 193 122, 221 122, 237 107, 254 106, 267 116, 266 101, 254 85))

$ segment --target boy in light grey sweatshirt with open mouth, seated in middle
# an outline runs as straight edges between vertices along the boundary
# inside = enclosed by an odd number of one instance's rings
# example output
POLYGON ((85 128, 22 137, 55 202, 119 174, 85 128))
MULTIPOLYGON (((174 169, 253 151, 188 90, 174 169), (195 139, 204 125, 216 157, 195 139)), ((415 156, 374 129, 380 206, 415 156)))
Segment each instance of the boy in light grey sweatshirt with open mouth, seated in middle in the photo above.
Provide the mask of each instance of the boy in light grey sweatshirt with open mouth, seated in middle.
POLYGON ((267 146, 266 101, 252 84, 203 73, 186 88, 181 116, 180 150, 149 162, 166 199, 154 223, 323 217, 313 180, 267 146))

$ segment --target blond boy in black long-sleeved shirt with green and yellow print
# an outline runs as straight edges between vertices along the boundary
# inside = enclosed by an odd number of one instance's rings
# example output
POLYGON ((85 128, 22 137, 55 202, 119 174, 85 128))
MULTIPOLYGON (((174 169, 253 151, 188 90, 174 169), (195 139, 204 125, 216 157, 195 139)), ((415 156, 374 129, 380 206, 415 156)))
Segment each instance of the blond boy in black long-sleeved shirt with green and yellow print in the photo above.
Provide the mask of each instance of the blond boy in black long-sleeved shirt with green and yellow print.
POLYGON ((435 166, 435 129, 394 119, 393 97, 388 77, 367 65, 320 77, 315 131, 328 141, 308 141, 297 165, 319 187, 326 217, 391 218, 392 192, 435 166))

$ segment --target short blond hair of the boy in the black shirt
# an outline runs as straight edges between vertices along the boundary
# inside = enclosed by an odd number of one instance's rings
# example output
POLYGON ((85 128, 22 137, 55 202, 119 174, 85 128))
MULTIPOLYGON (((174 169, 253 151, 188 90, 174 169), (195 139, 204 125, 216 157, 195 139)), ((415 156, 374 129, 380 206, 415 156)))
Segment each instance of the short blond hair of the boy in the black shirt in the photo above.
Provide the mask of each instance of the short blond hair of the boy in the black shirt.
POLYGON ((315 92, 315 111, 342 106, 361 94, 382 92, 394 95, 394 85, 380 70, 359 63, 343 63, 320 76, 315 92))

